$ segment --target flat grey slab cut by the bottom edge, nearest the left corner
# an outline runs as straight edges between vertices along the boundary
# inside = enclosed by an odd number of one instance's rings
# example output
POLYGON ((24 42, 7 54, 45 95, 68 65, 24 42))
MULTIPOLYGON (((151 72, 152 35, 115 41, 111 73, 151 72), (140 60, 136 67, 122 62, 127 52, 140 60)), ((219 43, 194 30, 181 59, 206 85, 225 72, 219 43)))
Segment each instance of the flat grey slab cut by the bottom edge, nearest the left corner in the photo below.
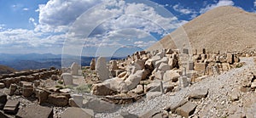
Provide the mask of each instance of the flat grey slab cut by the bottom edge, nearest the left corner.
POLYGON ((29 105, 19 110, 16 118, 53 118, 53 109, 40 105, 29 105))

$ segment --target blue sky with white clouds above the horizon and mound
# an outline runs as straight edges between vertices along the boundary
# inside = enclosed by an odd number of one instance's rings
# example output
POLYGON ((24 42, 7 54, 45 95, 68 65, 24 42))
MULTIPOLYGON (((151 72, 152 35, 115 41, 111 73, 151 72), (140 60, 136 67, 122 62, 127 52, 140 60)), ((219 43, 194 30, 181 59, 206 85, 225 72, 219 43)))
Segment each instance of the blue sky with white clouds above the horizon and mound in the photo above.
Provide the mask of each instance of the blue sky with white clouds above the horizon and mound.
POLYGON ((0 53, 125 55, 227 5, 256 13, 256 0, 0 0, 0 53))

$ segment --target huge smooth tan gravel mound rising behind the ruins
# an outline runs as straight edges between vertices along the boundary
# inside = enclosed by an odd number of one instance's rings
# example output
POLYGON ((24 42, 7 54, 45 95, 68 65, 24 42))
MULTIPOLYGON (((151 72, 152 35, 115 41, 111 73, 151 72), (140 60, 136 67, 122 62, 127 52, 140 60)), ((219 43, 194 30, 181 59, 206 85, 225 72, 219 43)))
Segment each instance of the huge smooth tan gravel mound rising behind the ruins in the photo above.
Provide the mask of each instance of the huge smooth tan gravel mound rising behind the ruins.
POLYGON ((189 40, 192 48, 207 51, 242 51, 256 48, 256 14, 240 8, 214 8, 173 31, 148 50, 183 47, 189 40), (176 42, 176 44, 173 43, 176 42))

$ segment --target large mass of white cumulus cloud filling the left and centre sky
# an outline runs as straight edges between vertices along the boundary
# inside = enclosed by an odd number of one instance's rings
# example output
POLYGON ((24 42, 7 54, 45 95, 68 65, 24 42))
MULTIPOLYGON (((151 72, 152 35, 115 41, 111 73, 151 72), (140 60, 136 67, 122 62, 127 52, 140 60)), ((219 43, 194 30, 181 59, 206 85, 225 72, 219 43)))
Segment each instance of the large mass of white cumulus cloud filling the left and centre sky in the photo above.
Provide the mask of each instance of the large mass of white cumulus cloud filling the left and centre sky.
MULTIPOLYGON (((0 45, 61 47, 70 39, 67 42, 84 43, 84 47, 129 44, 145 48, 157 41, 152 33, 163 36, 187 22, 178 21, 172 14, 159 12, 148 4, 118 0, 49 0, 38 6, 38 21, 29 18, 29 23, 35 26, 33 30, 1 31, 0 45), (147 38, 150 40, 145 40, 147 38)), ((23 7, 23 10, 26 9, 23 7)), ((190 14, 187 10, 181 12, 190 14)))

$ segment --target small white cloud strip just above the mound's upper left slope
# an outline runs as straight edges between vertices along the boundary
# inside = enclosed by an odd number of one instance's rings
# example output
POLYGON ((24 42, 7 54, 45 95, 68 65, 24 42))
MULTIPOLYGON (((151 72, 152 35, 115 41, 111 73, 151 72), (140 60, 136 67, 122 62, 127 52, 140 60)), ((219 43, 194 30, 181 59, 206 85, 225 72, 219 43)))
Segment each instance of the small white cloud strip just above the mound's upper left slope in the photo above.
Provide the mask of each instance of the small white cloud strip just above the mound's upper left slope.
POLYGON ((235 3, 232 0, 220 0, 218 3, 215 4, 208 4, 206 8, 201 8, 200 13, 206 13, 207 11, 218 8, 220 6, 233 6, 235 3))

